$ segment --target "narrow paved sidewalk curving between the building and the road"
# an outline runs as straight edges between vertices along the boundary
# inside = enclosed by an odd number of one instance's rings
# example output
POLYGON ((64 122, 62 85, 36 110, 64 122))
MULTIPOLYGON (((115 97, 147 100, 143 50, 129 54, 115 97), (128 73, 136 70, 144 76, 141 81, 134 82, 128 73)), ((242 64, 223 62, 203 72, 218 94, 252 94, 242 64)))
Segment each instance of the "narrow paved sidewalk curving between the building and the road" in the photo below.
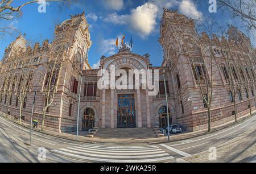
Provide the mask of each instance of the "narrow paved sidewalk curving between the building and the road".
MULTIPOLYGON (((253 112, 253 114, 255 114, 255 113, 256 113, 256 111, 253 112)), ((238 118, 238 122, 242 121, 243 119, 246 119, 247 117, 251 117, 250 114, 246 114, 246 115, 243 115, 242 117, 238 118)), ((6 118, 6 117, 3 117, 3 118, 6 118)), ((7 118, 7 119, 9 119, 10 121, 15 122, 16 124, 18 124, 18 121, 15 121, 13 119, 13 117, 7 118)), ((231 126, 233 124, 234 124, 234 121, 225 123, 225 124, 220 125, 220 126, 212 127, 211 132, 217 131, 217 130, 220 130, 220 129, 224 129, 225 127, 231 126)), ((25 121, 22 121, 22 126, 30 128, 30 124, 28 122, 25 122, 25 121)), ((33 129, 33 130, 41 132, 40 128, 33 129)), ((47 135, 56 136, 58 138, 64 138, 64 139, 76 141, 76 135, 74 135, 74 134, 67 134, 67 133, 62 133, 62 132, 53 132, 53 131, 48 131, 48 130, 45 130, 43 133, 47 134, 47 135)), ((118 143, 118 144, 130 144, 130 143, 133 143, 133 144, 134 143, 137 143, 137 144, 145 144, 145 143, 147 143, 147 144, 157 144, 157 143, 163 143, 163 142, 175 142, 175 141, 178 141, 178 140, 189 139, 189 138, 193 138, 193 137, 201 136, 201 135, 205 135, 205 134, 208 134, 207 130, 200 130, 200 131, 195 131, 195 132, 184 132, 183 134, 174 134, 174 135, 171 134, 170 141, 167 141, 167 137, 148 138, 148 139, 89 138, 89 137, 86 137, 85 134, 81 134, 81 132, 80 132, 79 142, 118 143)))

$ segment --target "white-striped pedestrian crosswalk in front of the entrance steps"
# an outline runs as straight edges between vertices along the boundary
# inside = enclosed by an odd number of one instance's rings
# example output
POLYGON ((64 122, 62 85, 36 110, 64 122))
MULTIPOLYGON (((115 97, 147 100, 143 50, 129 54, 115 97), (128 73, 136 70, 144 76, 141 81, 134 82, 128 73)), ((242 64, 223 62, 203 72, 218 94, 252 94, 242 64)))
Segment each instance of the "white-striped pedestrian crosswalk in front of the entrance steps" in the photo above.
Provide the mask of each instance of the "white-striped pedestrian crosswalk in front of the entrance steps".
POLYGON ((174 159, 156 145, 108 146, 88 143, 51 152, 68 158, 105 163, 154 163, 174 159))

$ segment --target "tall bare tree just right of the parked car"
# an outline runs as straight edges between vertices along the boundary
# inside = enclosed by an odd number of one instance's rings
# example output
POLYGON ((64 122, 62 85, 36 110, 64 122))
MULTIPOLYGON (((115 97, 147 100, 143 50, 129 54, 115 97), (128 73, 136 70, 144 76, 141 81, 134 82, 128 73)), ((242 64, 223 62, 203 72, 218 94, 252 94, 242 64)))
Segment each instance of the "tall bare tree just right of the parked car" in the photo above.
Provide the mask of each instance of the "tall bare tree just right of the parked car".
MULTIPOLYGON (((177 24, 182 26, 182 23, 177 24)), ((213 98, 213 76, 217 72, 217 63, 213 53, 214 43, 212 42, 213 24, 207 23, 202 26, 204 30, 201 37, 197 31, 189 35, 185 33, 184 28, 179 27, 176 31, 174 27, 172 30, 177 34, 179 47, 176 52, 181 52, 188 57, 189 63, 196 80, 196 86, 199 87, 201 98, 204 105, 208 109, 208 131, 211 130, 211 105, 213 98), (196 56, 195 56, 196 55, 196 56)))

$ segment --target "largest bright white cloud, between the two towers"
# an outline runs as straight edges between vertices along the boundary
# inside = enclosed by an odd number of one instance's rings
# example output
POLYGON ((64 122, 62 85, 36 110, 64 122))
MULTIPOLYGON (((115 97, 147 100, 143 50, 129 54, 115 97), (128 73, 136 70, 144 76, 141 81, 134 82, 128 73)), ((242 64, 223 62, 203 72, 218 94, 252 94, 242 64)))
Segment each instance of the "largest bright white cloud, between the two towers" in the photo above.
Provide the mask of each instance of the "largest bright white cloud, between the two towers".
POLYGON ((130 14, 118 15, 113 13, 108 15, 104 21, 114 24, 125 24, 130 30, 137 32, 142 38, 150 35, 155 29, 158 6, 153 3, 145 3, 132 9, 130 14))

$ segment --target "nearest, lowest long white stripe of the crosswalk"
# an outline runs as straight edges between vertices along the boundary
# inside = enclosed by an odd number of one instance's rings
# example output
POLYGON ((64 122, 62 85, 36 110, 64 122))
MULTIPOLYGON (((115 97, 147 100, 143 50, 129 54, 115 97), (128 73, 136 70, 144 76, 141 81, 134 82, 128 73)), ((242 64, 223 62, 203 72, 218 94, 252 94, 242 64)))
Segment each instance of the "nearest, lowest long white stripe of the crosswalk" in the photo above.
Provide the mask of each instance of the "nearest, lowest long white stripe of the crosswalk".
POLYGON ((59 150, 53 150, 53 152, 56 152, 56 153, 62 154, 62 155, 72 156, 74 158, 90 160, 90 161, 102 161, 102 162, 106 162, 106 163, 152 163, 152 162, 156 162, 156 161, 164 161, 164 160, 174 159, 173 156, 166 156, 163 158, 156 158, 156 159, 141 159, 141 160, 138 160, 138 159, 134 159, 134 160, 101 159, 101 158, 92 158, 92 157, 88 157, 88 156, 70 154, 67 152, 59 151, 59 150))

